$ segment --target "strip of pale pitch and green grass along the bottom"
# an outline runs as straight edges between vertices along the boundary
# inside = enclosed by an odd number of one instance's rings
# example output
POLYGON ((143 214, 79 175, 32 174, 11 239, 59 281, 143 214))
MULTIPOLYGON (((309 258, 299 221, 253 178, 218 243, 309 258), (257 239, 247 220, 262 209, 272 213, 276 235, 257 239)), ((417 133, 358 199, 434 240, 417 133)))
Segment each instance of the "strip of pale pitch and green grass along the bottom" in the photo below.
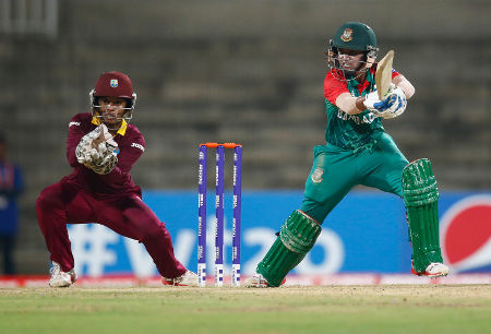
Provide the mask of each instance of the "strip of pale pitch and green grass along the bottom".
POLYGON ((3 288, 0 333, 491 333, 491 285, 3 288))

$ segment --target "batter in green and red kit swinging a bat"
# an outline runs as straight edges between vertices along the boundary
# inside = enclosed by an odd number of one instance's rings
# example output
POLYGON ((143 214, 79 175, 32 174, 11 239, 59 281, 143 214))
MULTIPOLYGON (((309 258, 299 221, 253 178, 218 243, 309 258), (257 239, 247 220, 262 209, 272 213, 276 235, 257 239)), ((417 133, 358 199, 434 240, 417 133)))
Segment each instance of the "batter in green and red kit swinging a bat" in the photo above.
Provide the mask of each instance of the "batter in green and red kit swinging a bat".
POLYGON ((404 200, 414 274, 448 274, 440 251, 439 192, 431 163, 428 158, 409 163, 382 123, 404 112, 415 87, 392 69, 392 60, 387 67, 387 57, 375 62, 378 51, 375 33, 359 22, 343 24, 330 40, 324 80, 326 144, 314 147, 300 208, 280 227, 246 286, 280 286, 314 246, 330 212, 358 184, 404 200), (387 82, 382 72, 387 73, 387 82))

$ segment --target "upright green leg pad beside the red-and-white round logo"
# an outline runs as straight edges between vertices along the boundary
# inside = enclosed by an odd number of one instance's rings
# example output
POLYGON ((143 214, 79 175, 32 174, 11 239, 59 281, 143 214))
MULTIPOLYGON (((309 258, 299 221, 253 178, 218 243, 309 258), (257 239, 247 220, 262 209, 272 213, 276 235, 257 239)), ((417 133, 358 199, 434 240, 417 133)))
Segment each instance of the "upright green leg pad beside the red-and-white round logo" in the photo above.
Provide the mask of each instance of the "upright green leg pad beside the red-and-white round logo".
POLYGON ((407 208, 415 270, 423 273, 430 263, 443 262, 439 238, 439 190, 429 159, 412 162, 404 168, 403 198, 407 208))

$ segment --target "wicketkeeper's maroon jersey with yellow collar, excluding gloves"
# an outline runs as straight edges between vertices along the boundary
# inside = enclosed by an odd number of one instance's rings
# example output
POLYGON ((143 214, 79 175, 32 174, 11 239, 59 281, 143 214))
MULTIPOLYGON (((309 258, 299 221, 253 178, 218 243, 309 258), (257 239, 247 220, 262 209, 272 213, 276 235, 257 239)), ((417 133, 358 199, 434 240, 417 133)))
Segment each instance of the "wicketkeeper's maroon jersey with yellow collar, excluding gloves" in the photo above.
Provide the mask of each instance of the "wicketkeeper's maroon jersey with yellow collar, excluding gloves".
POLYGON ((67 157, 73 171, 62 179, 62 182, 75 183, 95 196, 107 198, 136 193, 141 198, 141 189, 135 186, 130 176, 131 167, 145 151, 145 140, 135 126, 125 122, 115 135, 118 143, 118 165, 107 175, 98 175, 92 169, 79 164, 75 148, 82 136, 98 126, 89 112, 75 115, 69 124, 67 140, 67 157))

